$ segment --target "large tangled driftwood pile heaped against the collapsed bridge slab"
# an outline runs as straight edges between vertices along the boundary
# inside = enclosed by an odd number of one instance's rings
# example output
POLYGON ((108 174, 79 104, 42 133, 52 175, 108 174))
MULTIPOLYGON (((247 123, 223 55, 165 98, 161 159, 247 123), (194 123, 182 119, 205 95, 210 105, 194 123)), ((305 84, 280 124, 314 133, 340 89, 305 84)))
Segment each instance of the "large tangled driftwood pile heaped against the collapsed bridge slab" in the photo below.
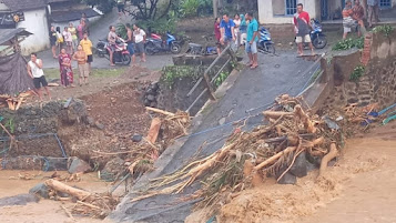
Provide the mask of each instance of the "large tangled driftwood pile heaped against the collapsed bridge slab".
POLYGON ((199 181, 201 190, 192 199, 203 197, 204 205, 224 203, 224 196, 260 185, 265 178, 282 179, 302 152, 321 158, 319 175, 323 175, 328 161, 338 154, 342 132, 328 128, 304 104, 303 99, 278 97, 274 107, 263 112, 266 125, 251 132, 237 128, 215 153, 171 175, 154 179, 150 190, 133 202, 158 194, 177 194, 199 181))

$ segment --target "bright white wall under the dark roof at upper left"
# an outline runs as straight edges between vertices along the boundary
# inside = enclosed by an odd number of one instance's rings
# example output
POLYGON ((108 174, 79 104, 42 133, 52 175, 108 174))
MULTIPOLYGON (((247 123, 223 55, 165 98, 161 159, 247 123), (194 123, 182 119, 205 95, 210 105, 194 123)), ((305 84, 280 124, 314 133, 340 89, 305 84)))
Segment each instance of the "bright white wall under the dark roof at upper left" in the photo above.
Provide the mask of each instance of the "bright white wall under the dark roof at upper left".
POLYGON ((17 28, 26 28, 33 33, 21 42, 22 54, 42 51, 49 48, 49 28, 45 9, 24 11, 24 21, 19 22, 17 28))

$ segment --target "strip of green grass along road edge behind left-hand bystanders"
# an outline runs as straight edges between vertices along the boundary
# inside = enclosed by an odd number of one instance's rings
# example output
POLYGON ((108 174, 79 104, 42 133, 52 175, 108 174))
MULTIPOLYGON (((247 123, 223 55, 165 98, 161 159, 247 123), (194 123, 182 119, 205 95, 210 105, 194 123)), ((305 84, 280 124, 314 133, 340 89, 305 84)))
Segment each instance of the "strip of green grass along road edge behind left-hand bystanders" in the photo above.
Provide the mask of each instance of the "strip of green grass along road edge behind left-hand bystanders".
MULTIPOLYGON (((92 69, 91 77, 98 78, 110 78, 123 74, 126 68, 115 68, 115 69, 92 69)), ((74 77, 79 75, 79 70, 73 69, 74 77)), ((60 72, 57 68, 44 69, 45 78, 48 80, 60 79, 60 72)))

